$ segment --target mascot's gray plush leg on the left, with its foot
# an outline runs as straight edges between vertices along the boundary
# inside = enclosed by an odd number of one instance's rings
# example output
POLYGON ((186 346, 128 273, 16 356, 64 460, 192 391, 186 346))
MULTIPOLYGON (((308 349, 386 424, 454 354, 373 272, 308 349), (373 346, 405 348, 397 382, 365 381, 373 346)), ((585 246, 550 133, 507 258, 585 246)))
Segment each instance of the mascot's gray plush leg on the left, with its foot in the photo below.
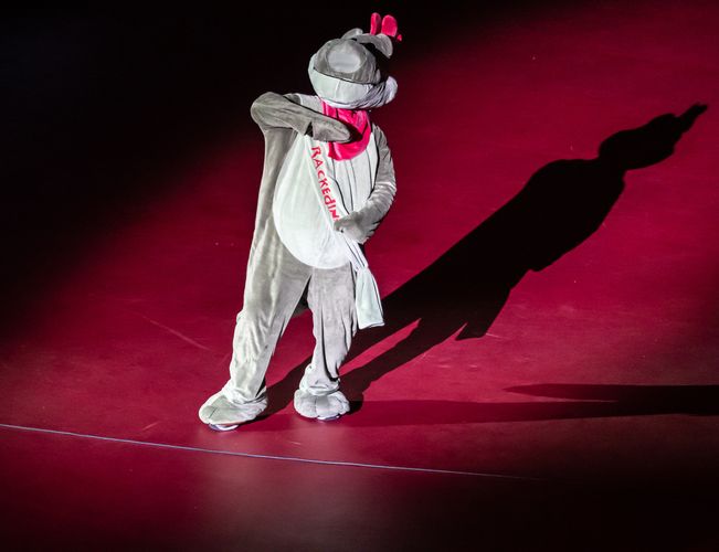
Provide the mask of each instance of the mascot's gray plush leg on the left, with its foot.
POLYGON ((253 255, 247 266, 230 380, 200 408, 200 420, 208 424, 247 422, 267 407, 267 364, 311 275, 311 267, 287 251, 274 229, 266 234, 262 256, 253 255))

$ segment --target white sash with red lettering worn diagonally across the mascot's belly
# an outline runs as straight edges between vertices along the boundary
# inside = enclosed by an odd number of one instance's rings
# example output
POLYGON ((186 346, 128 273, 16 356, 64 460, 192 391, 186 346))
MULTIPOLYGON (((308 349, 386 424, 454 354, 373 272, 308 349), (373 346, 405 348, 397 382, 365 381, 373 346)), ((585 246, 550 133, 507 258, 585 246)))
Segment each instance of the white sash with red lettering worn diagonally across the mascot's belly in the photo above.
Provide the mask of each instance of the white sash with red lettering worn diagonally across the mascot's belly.
MULTIPOLYGON (((327 224, 329 224, 331 232, 338 237, 339 243, 343 245, 347 257, 355 270, 357 323, 360 329, 383 326, 384 319, 382 318, 380 291, 360 244, 343 233, 335 231, 335 221, 347 216, 349 212, 342 202, 342 194, 335 181, 335 176, 331 173, 331 166, 327 162, 325 153, 327 146, 324 142, 314 140, 309 136, 299 136, 298 139, 304 141, 305 162, 313 174, 313 188, 317 194, 321 211, 325 214, 324 217, 327 224)), ((363 200, 367 201, 367 199, 363 200)))

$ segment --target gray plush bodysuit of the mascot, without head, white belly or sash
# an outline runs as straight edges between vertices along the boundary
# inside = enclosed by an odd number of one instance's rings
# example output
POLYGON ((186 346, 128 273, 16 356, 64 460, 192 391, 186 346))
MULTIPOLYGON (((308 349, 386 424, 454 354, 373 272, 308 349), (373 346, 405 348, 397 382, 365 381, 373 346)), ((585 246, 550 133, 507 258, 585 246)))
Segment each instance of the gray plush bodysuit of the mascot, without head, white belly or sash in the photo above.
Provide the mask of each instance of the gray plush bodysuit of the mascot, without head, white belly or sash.
MULTIPOLYGON (((343 414, 348 408, 346 400, 339 397, 338 388, 339 367, 357 331, 353 272, 349 263, 331 269, 300 263, 283 245, 273 219, 272 201, 277 176, 297 134, 320 141, 350 139, 342 123, 303 106, 303 100, 313 107, 320 105, 313 96, 274 93, 263 94, 252 105, 252 118, 265 137, 265 162, 247 263, 244 305, 237 315, 230 381, 200 408, 204 423, 244 422, 249 420, 250 411, 254 417, 264 410, 264 375, 269 358, 305 289, 308 290, 317 343, 300 390, 304 394, 332 395, 336 400, 324 401, 319 407, 309 404, 315 401, 304 402, 300 414, 314 417, 314 412, 317 417, 331 417, 332 408, 338 411, 335 414, 343 414), (313 407, 315 411, 310 412, 313 407)), ((379 148, 376 187, 366 206, 352 215, 358 236, 363 240, 371 235, 389 211, 395 190, 387 139, 376 125, 372 131, 379 148)))

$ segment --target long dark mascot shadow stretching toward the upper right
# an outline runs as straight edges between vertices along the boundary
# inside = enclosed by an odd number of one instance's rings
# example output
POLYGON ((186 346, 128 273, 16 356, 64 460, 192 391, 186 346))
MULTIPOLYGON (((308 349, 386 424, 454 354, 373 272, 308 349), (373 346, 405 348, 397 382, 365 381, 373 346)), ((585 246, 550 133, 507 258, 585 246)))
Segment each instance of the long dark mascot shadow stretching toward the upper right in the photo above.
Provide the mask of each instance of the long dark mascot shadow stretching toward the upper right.
MULTIPOLYGON (((697 104, 680 116, 660 115, 639 128, 616 132, 602 142, 595 159, 558 160, 546 164, 517 195, 425 270, 385 297, 385 326, 359 332, 348 361, 416 320, 419 325, 392 349, 342 376, 342 391, 352 402, 353 411, 361 407, 362 393, 372 382, 458 330, 462 330, 456 337, 458 340, 482 338, 525 274, 551 265, 591 236, 620 198, 626 171, 649 167, 672 156, 681 135, 706 109, 697 104)), ((309 361, 293 369, 268 390, 268 414, 292 401, 309 361)), ((717 390, 711 391, 713 399, 718 399, 717 390)), ((657 410, 659 402, 651 401, 647 408, 657 410)), ((537 403, 527 405, 530 411, 537 408, 537 403)), ((437 412, 426 408, 427 405, 408 406, 391 408, 404 408, 401 418, 409 413, 422 418, 420 412, 437 412)), ((467 406, 472 406, 465 411, 469 416, 479 408, 482 412, 476 414, 493 418, 491 413, 484 413, 494 408, 491 405, 463 403, 464 408, 467 406)), ((592 405, 589 408, 600 413, 621 412, 617 406, 592 405)), ((445 412, 453 417, 451 412, 445 412)), ((521 413, 522 408, 517 412, 521 413)), ((394 414, 400 415, 399 412, 394 414)), ((539 415, 551 417, 550 412, 539 415)), ((525 413, 522 420, 526 416, 532 418, 530 412, 525 413)), ((421 421, 415 420, 415 423, 421 421)))

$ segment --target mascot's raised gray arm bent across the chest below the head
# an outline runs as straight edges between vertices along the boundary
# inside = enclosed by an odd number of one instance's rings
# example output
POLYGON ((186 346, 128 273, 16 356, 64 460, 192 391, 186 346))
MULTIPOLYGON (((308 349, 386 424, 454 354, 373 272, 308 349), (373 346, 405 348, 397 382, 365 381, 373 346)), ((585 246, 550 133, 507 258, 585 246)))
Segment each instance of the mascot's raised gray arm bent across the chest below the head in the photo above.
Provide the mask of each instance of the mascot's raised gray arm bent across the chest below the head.
POLYGON ((282 96, 267 92, 255 99, 250 114, 263 132, 273 128, 292 128, 300 135, 309 135, 319 141, 346 142, 351 139, 350 131, 343 123, 303 107, 293 102, 293 97, 297 96, 293 94, 282 96))

